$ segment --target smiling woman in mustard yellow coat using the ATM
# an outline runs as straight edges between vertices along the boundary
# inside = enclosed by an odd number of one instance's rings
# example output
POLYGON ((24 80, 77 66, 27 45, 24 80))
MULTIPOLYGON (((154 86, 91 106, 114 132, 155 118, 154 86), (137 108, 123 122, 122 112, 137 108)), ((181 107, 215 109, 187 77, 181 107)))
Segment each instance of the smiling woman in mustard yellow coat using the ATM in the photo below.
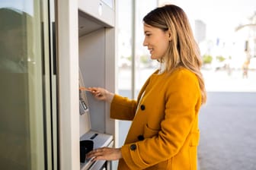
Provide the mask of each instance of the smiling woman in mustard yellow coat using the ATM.
POLYGON ((198 112, 206 102, 197 43, 184 11, 165 5, 144 21, 151 58, 161 68, 146 81, 137 100, 91 88, 96 99, 110 102, 110 117, 131 120, 121 148, 99 148, 93 160, 119 159, 118 169, 197 169, 198 112))

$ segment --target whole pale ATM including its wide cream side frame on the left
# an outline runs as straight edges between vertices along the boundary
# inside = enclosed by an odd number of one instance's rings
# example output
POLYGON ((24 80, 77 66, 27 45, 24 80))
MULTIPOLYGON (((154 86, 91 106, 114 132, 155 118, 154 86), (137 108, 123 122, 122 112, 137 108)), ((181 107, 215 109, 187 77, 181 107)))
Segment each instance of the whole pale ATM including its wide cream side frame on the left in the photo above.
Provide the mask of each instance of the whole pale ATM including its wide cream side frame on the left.
POLYGON ((82 87, 115 92, 115 0, 61 0, 56 5, 58 162, 63 170, 108 170, 112 162, 85 159, 117 145, 110 105, 82 87), (80 153, 80 154, 79 154, 80 153))

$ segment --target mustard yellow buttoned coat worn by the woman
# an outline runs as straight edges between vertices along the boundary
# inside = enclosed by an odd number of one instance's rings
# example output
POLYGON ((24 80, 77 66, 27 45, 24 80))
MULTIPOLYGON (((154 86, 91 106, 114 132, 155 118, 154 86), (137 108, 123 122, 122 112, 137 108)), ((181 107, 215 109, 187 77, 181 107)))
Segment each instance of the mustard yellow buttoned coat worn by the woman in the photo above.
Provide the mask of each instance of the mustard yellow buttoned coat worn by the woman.
POLYGON ((157 72, 137 100, 115 95, 111 102, 111 118, 133 120, 118 169, 197 169, 201 105, 197 77, 185 68, 172 74, 157 72))

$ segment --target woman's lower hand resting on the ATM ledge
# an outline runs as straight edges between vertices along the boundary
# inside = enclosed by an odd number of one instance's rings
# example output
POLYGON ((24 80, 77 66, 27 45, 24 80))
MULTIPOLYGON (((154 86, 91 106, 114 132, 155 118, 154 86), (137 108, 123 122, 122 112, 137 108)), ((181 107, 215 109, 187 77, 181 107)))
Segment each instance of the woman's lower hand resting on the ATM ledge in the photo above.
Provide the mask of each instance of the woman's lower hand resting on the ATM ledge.
POLYGON ((117 160, 121 159, 122 153, 120 148, 102 147, 96 150, 91 150, 90 153, 86 154, 86 158, 93 158, 91 161, 97 160, 117 160))

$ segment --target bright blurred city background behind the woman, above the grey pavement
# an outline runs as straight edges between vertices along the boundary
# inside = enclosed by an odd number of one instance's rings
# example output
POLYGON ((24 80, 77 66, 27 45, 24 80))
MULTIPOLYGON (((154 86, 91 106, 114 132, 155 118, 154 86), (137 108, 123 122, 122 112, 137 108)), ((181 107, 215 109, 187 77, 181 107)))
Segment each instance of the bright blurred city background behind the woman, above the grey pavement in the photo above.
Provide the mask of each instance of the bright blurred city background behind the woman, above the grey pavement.
POLYGON ((213 80, 213 77, 224 81, 221 84, 218 81, 215 84, 206 82, 207 90, 254 91, 255 86, 249 87, 248 83, 245 83, 245 86, 231 88, 229 84, 229 82, 233 84, 234 80, 255 77, 256 2, 252 0, 190 2, 150 0, 146 5, 141 0, 119 2, 117 8, 118 89, 130 90, 133 96, 132 91, 139 90, 147 78, 145 74, 151 74, 155 68, 158 68, 158 62, 152 61, 148 50, 142 46, 144 39, 142 17, 153 8, 168 3, 179 5, 190 19, 194 37, 200 46, 203 59, 202 71, 206 75, 206 81, 213 80), (136 75, 134 82, 130 75, 136 75))

